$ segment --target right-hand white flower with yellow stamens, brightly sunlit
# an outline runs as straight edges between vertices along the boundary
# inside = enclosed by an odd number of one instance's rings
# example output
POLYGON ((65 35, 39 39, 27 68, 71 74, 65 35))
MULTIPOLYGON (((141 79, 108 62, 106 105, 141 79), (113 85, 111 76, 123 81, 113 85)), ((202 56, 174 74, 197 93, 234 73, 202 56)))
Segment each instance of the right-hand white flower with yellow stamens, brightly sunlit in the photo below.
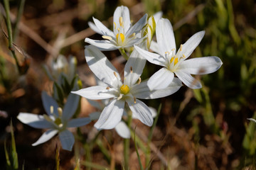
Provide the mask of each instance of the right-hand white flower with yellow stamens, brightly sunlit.
POLYGON ((209 74, 223 64, 219 57, 198 57, 186 60, 201 42, 205 31, 198 32, 181 45, 176 52, 174 31, 168 19, 161 18, 156 24, 156 53, 135 46, 146 60, 164 68, 156 72, 148 81, 149 89, 163 89, 174 79, 174 74, 191 89, 201 88, 201 83, 191 74, 209 74))

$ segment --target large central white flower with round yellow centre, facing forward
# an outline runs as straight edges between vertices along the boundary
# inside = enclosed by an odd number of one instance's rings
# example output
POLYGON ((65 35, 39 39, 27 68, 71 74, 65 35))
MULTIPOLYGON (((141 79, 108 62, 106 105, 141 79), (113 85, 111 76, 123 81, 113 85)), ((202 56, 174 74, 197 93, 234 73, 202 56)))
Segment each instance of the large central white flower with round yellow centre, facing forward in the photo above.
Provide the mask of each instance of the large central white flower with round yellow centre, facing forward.
POLYGON ((85 49, 85 59, 95 76, 104 85, 91 86, 79 91, 72 91, 91 100, 112 98, 95 123, 97 129, 112 129, 120 122, 124 113, 124 105, 145 125, 151 126, 153 118, 149 107, 137 98, 161 98, 174 94, 181 87, 181 81, 174 80, 166 89, 149 91, 146 81, 141 82, 140 76, 144 69, 144 59, 136 55, 134 50, 124 67, 124 81, 117 69, 97 47, 90 45, 85 49), (135 55, 134 55, 135 54, 135 55))

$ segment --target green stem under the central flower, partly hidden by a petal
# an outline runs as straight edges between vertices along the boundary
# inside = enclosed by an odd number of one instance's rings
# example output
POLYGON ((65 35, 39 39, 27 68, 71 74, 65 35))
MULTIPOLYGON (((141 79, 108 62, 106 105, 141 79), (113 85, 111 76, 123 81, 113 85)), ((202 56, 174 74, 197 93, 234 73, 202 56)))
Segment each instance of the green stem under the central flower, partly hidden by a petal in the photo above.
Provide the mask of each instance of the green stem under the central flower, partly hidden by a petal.
MULTIPOLYGON (((129 109, 129 107, 125 107, 127 110, 127 126, 130 129, 132 124, 132 111, 129 109)), ((129 169, 129 139, 124 139, 124 169, 129 169)))

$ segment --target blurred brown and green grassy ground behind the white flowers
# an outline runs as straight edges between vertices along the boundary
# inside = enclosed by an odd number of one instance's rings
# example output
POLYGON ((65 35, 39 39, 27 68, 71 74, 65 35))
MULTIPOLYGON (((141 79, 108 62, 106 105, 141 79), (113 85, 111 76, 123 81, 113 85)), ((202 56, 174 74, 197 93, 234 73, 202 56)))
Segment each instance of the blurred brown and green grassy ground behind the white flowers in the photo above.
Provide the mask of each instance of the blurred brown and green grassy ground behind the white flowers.
MULTIPOLYGON (((85 62, 84 40, 102 38, 88 27, 88 21, 94 16, 112 30, 114 10, 121 5, 129 7, 133 23, 144 13, 162 11, 163 18, 174 27, 176 45, 206 30, 191 57, 218 56, 223 61, 217 72, 197 77, 202 89, 183 86, 169 97, 144 101, 156 109, 162 103, 150 145, 149 169, 255 169, 256 127, 247 118, 256 118, 256 1, 26 0, 23 10, 18 8, 22 2, 9 1, 19 69, 8 47, 3 0, 0 4, 0 169, 6 167, 4 141, 9 146, 11 120, 20 167, 55 169, 58 138, 32 147, 43 130, 23 125, 16 116, 20 112, 45 113, 41 91, 51 91, 53 81, 46 77, 43 64, 50 65, 60 54, 78 60, 82 87, 95 85, 85 62)), ((125 63, 119 52, 104 53, 122 72, 125 63)), ((158 69, 147 62, 142 79, 158 69)), ((82 99, 80 116, 92 111, 95 108, 82 99)), ((74 169, 77 158, 82 162, 80 169, 110 168, 110 160, 100 146, 115 155, 115 168, 122 169, 122 138, 116 132, 102 130, 98 137, 101 143, 85 144, 95 132, 93 125, 78 130, 73 152, 60 150, 62 169, 74 169)), ((136 120, 133 125, 137 125, 137 135, 143 141, 150 128, 136 120)), ((144 153, 139 153, 143 163, 144 153)), ((129 159, 130 169, 138 169, 132 140, 129 159)))

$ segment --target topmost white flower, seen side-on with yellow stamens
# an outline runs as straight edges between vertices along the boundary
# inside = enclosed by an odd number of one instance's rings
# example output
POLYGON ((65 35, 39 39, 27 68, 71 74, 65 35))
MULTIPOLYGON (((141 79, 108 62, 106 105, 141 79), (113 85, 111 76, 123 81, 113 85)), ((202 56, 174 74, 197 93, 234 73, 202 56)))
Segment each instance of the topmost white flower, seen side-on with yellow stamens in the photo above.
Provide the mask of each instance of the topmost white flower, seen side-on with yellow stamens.
POLYGON ((132 26, 129 17, 129 9, 126 6, 119 6, 114 11, 113 31, 104 26, 99 20, 93 18, 94 23, 89 23, 90 28, 102 35, 105 40, 92 40, 85 38, 85 42, 99 47, 100 50, 117 50, 124 47, 132 47, 139 43, 140 31, 146 24, 145 14, 137 23, 132 26))

